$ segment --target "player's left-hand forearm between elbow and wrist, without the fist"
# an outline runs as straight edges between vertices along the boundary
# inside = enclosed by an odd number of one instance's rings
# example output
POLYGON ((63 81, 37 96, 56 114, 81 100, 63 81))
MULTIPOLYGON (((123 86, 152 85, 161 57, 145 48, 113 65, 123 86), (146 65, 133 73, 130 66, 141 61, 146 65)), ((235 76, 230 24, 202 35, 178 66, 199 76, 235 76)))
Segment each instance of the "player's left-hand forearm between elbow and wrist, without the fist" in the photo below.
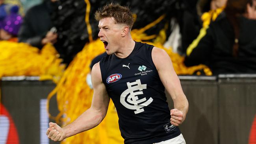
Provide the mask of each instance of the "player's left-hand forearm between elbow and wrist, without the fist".
POLYGON ((93 127, 98 126, 100 122, 104 119, 105 114, 102 114, 100 111, 96 111, 92 108, 85 111, 81 114, 74 122, 63 127, 65 138, 71 137, 83 131, 92 129, 93 127))

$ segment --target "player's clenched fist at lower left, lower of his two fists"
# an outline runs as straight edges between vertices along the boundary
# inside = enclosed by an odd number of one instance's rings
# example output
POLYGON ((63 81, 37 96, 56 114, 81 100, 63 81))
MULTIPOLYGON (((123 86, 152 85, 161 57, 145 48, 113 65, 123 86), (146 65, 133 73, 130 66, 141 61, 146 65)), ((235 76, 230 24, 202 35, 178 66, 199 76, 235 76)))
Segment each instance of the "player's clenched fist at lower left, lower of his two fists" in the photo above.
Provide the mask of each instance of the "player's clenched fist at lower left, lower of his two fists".
POLYGON ((62 141, 66 137, 63 129, 60 126, 58 126, 58 124, 53 122, 49 123, 49 128, 46 131, 46 135, 49 139, 55 142, 62 141))

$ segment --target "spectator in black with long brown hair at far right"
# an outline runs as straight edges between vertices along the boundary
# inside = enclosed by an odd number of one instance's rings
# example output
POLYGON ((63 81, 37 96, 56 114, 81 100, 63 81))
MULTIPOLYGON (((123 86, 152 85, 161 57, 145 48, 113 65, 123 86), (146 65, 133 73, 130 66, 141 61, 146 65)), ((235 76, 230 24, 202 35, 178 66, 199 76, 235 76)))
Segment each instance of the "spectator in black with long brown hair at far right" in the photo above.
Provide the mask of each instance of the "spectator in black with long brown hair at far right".
POLYGON ((208 65, 213 74, 256 72, 256 0, 228 0, 224 12, 185 58, 186 66, 208 65))

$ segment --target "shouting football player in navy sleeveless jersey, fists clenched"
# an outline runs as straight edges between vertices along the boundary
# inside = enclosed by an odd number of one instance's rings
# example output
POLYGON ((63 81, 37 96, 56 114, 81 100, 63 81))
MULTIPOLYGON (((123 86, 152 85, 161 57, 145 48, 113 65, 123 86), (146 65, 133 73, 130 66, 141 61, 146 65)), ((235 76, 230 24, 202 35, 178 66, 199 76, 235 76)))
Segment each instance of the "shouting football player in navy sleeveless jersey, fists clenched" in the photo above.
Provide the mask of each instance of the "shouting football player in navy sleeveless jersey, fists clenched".
POLYGON ((169 55, 132 40, 134 20, 127 7, 109 4, 97 11, 95 18, 108 55, 92 68, 91 107, 63 128, 50 122, 48 138, 61 141, 96 127, 105 117, 111 98, 125 144, 186 144, 177 126, 186 118, 188 102, 169 55), (171 113, 165 88, 174 101, 171 113))

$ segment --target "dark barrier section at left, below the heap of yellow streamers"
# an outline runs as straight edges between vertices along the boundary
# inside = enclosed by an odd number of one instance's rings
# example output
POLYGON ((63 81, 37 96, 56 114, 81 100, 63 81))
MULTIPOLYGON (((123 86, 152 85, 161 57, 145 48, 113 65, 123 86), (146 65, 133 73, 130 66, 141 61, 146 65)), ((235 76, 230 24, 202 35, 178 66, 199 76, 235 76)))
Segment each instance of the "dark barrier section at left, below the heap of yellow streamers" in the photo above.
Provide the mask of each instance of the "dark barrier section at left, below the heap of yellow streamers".
MULTIPOLYGON (((58 144, 49 142, 46 136, 48 128, 48 114, 46 111, 46 98, 56 86, 52 81, 38 81, 39 77, 4 77, 1 81, 1 103, 10 114, 19 137, 19 144, 58 144)), ((50 112, 57 114, 56 97, 50 101, 50 112)), ((4 118, 1 123, 10 123, 4 118)), ((0 119, 1 120, 1 119, 0 119)), ((51 120, 52 121, 52 120, 51 120)), ((13 129, 8 125, 0 128, 0 144, 12 139, 13 129), (5 131, 9 133, 4 137, 5 131)), ((10 142, 10 144, 18 144, 10 142)))

